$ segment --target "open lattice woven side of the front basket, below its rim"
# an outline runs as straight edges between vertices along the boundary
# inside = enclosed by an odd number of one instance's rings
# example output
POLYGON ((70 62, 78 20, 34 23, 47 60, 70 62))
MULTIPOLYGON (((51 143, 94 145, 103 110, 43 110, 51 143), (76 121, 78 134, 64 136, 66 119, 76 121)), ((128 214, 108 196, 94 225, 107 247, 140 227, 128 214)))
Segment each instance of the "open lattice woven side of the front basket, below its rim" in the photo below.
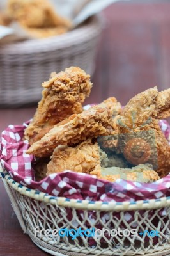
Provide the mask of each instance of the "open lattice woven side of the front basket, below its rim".
MULTIPOLYGON (((29 200, 28 198, 23 198, 17 193, 17 202, 20 205, 20 209, 22 210, 22 214, 24 220, 27 223, 27 230, 29 230, 29 234, 31 233, 33 236, 35 235, 35 228, 39 226, 39 230, 42 228, 50 229, 50 230, 59 230, 60 228, 68 228, 75 229, 82 228, 82 230, 86 230, 86 228, 95 228, 98 229, 100 227, 105 228, 107 230, 112 230, 118 228, 133 229, 134 222, 138 225, 139 230, 162 230, 160 232, 160 238, 156 242, 152 237, 108 237, 107 232, 104 236, 99 238, 93 238, 92 246, 89 245, 88 237, 77 237, 75 240, 69 239, 69 237, 45 237, 44 234, 37 234, 37 238, 44 241, 47 244, 52 246, 56 246, 61 250, 66 250, 68 252, 76 252, 76 253, 86 253, 93 255, 135 255, 143 253, 153 253, 157 252, 161 249, 169 249, 169 241, 167 237, 170 237, 169 230, 169 220, 166 217, 160 218, 159 212, 160 209, 155 211, 149 210, 141 214, 139 211, 134 212, 134 220, 128 224, 125 220, 125 214, 128 212, 120 212, 120 218, 115 218, 114 211, 108 212, 107 216, 109 220, 105 223, 103 221, 104 212, 95 211, 95 223, 91 223, 89 220, 89 216, 91 216, 91 211, 84 210, 81 212, 82 220, 79 220, 80 210, 70 209, 66 207, 57 207, 52 204, 40 204, 38 201, 29 200), (153 213, 153 217, 150 220, 148 218, 150 211, 153 213), (68 220, 68 212, 69 215, 72 216, 70 220, 68 220), (77 225, 73 225, 76 223, 77 225), (114 253, 114 254, 113 254, 114 253)), ((170 213, 170 209, 168 209, 167 214, 170 213)))

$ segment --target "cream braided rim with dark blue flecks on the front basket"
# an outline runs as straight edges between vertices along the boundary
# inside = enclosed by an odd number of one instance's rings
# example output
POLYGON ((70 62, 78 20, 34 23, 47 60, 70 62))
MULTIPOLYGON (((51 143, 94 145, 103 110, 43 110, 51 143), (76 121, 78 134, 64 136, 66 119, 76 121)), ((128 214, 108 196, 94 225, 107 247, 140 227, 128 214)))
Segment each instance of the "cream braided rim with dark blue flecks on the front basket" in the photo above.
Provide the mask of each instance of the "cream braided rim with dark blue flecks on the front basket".
POLYGON ((75 209, 93 210, 93 211, 137 211, 161 209, 170 206, 170 196, 159 199, 124 201, 124 202, 102 202, 79 199, 68 199, 65 197, 51 196, 47 193, 38 191, 37 189, 29 189, 19 184, 0 164, 0 178, 5 179, 10 187, 18 191, 20 194, 32 198, 34 200, 45 202, 46 204, 56 205, 58 207, 71 207, 75 209))

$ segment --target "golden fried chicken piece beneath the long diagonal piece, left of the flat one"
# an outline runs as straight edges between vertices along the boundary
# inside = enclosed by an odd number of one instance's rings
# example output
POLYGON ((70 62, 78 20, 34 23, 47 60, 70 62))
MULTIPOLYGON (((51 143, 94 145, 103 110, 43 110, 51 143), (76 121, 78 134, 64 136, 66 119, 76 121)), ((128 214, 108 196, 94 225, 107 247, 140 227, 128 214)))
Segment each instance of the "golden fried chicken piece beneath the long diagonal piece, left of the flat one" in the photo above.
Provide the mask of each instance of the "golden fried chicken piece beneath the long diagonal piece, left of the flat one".
POLYGON ((76 147, 57 147, 47 165, 47 175, 64 170, 89 174, 95 169, 100 169, 101 159, 105 157, 107 154, 100 152, 97 142, 92 143, 90 139, 76 147))

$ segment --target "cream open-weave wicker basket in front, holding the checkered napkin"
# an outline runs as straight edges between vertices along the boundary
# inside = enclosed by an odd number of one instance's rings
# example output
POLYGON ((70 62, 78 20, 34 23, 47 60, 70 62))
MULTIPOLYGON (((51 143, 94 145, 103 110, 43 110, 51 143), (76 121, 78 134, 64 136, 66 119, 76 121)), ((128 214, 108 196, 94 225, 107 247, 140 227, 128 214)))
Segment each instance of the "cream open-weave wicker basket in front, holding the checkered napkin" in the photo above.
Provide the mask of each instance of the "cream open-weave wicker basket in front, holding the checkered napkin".
POLYGON ((28 189, 15 182, 8 173, 3 170, 0 164, 0 176, 4 187, 10 197, 13 209, 17 214, 22 230, 31 237, 32 241, 45 252, 51 255, 170 255, 170 197, 157 200, 136 201, 136 202, 91 202, 88 200, 68 200, 47 195, 40 191, 28 189), (71 220, 68 220, 68 211, 71 220), (164 216, 160 212, 166 211, 164 216), (79 220, 81 212, 82 221, 79 220), (89 221, 89 216, 93 212, 95 221, 89 221), (126 221, 125 215, 131 214, 133 220, 126 221), (116 214, 120 214, 120 219, 116 214), (104 221, 104 214, 107 214, 107 222, 104 221), (149 216, 152 216, 149 218, 149 216), (77 224, 78 223, 78 226, 77 224), (86 228, 85 223, 89 223, 95 230, 100 228, 115 229, 119 227, 137 228, 143 230, 160 230, 157 242, 153 237, 112 237, 107 235, 94 238, 95 246, 89 244, 89 237, 77 237, 71 240, 68 237, 47 237, 43 233, 35 234, 35 228, 44 230, 54 230, 60 228, 86 228))

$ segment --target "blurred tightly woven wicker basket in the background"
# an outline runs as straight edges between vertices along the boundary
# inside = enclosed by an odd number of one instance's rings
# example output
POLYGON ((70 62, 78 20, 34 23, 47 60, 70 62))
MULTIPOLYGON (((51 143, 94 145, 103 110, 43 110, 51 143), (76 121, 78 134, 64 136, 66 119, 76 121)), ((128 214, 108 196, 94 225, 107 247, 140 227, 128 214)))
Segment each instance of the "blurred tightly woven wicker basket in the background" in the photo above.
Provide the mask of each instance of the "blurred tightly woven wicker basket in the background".
POLYGON ((79 66, 93 74, 102 21, 95 15, 60 36, 0 46, 0 106, 37 102, 53 71, 79 66))

